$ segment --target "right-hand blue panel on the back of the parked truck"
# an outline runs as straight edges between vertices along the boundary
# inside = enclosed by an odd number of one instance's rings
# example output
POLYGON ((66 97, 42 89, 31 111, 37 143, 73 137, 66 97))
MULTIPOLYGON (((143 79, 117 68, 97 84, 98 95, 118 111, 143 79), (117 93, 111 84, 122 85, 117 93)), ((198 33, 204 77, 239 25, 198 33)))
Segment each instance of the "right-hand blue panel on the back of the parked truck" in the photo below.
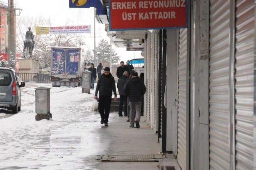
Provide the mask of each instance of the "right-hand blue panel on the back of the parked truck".
POLYGON ((68 75, 78 75, 79 74, 79 61, 80 55, 79 50, 67 50, 67 70, 68 75))

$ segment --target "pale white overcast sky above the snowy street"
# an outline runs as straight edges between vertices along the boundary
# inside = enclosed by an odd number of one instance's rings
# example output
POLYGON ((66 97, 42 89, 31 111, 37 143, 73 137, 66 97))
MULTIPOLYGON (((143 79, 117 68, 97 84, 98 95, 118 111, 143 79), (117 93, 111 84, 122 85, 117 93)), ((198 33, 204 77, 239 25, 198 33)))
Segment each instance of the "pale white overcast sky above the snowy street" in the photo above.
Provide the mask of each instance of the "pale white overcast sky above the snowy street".
MULTIPOLYGON (((8 2, 8 0, 1 0, 8 2)), ((50 18, 52 26, 64 26, 66 22, 70 25, 91 25, 91 34, 84 34, 84 42, 87 44, 84 48, 94 49, 94 8, 69 8, 68 0, 14 0, 18 8, 22 8, 22 16, 43 16, 50 18)), ((17 16, 19 19, 19 16, 17 16)), ((101 39, 110 41, 104 30, 105 24, 99 24, 96 21, 96 44, 101 39)), ((114 45, 112 46, 113 48, 114 45)), ((85 49, 86 50, 86 49, 85 49)), ((120 60, 127 61, 134 57, 134 52, 126 51, 126 48, 115 48, 120 56, 120 60)), ((135 52, 135 58, 141 58, 141 52, 135 52)))

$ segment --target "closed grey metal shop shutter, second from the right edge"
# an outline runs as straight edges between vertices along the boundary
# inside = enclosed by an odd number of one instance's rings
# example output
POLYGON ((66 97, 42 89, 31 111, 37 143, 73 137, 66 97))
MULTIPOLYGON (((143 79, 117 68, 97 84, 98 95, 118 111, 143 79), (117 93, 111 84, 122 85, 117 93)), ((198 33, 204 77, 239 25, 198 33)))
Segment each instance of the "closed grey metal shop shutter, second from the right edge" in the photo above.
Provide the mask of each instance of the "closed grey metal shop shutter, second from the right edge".
POLYGON ((210 1, 210 169, 230 170, 230 0, 210 1))

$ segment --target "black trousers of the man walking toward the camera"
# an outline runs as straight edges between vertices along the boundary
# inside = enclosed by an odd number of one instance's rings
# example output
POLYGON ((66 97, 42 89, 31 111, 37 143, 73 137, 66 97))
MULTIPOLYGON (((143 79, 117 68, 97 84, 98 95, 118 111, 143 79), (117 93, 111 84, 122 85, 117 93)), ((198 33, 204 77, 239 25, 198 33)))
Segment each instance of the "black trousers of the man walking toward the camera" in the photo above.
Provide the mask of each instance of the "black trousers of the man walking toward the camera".
POLYGON ((100 96, 99 98, 99 112, 104 123, 108 123, 111 98, 112 96, 100 96))

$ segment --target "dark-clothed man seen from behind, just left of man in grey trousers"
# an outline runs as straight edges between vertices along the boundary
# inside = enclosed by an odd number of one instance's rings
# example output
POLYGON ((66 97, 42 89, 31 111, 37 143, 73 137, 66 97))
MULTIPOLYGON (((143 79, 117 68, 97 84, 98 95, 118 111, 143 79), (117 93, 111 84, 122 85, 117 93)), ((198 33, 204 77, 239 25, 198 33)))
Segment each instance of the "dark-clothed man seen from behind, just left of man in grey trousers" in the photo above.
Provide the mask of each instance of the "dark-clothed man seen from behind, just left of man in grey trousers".
POLYGON ((129 73, 128 71, 125 71, 124 75, 121 78, 119 78, 117 82, 117 88, 120 95, 120 102, 119 102, 119 109, 118 109, 119 116, 123 116, 122 114, 123 104, 124 104, 124 116, 127 116, 127 96, 124 92, 124 85, 126 84, 128 78, 129 78, 129 73))

